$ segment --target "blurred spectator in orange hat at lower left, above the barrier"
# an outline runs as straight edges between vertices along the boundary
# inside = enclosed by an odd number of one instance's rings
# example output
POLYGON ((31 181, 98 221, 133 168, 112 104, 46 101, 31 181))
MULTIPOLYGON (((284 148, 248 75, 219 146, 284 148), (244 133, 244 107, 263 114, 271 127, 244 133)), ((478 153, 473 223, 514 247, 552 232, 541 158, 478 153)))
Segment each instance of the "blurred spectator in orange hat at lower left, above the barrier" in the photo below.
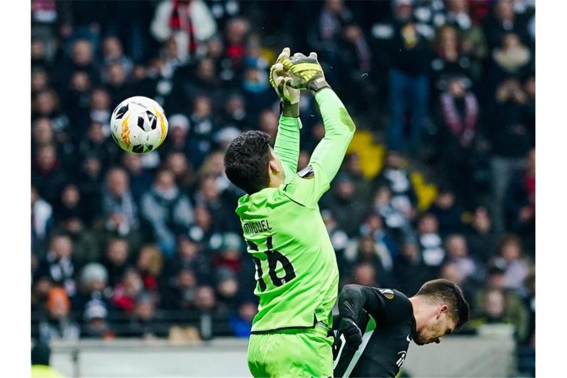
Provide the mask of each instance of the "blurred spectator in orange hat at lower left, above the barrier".
POLYGON ((40 340, 75 341, 81 333, 70 317, 71 304, 64 288, 54 287, 49 291, 46 317, 39 324, 40 340))

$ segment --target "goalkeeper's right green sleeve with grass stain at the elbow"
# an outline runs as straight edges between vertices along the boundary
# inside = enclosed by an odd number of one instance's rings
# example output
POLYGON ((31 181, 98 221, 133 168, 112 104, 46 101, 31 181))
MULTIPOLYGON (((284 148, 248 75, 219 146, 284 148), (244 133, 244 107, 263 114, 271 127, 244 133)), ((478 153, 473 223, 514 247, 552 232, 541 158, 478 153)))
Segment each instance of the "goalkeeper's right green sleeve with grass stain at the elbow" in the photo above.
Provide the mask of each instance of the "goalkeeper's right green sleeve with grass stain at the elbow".
POLYGON ((341 167, 356 126, 345 105, 331 88, 319 91, 315 100, 323 117, 325 137, 315 147, 310 164, 319 165, 325 179, 330 183, 341 167))

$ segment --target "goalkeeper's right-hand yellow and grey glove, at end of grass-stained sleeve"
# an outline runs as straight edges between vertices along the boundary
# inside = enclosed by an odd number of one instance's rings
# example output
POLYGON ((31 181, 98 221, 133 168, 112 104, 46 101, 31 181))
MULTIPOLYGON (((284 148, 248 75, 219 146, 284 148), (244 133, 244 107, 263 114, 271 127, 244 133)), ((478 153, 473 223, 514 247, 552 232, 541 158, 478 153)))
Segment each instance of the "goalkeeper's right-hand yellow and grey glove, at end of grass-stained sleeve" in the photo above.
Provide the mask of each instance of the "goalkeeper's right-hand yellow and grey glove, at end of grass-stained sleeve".
POLYGON ((325 80, 325 74, 317 60, 316 53, 311 53, 308 57, 302 53, 295 53, 291 58, 282 57, 281 62, 285 69, 293 74, 290 86, 314 92, 331 87, 325 80))

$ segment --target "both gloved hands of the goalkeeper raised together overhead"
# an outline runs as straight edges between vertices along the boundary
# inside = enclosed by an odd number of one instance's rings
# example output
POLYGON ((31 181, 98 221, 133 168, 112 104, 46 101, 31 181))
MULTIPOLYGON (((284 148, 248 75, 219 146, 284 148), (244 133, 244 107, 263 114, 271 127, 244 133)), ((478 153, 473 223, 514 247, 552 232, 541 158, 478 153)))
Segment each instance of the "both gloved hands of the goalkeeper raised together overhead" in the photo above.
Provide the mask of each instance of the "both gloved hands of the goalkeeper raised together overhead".
POLYGON ((270 84, 284 103, 293 105, 299 103, 300 90, 317 92, 329 87, 329 84, 325 81, 316 53, 308 57, 302 53, 295 53, 291 57, 290 54, 289 47, 282 50, 270 68, 270 84))

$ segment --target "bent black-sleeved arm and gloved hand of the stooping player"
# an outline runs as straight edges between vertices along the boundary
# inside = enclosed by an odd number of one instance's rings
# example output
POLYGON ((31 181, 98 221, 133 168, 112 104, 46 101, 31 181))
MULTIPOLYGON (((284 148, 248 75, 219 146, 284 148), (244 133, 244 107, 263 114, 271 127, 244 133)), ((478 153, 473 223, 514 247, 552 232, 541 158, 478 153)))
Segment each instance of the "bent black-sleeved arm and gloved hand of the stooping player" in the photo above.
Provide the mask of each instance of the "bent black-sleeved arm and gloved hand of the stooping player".
POLYGON ((371 287, 348 284, 342 288, 338 295, 338 314, 341 318, 338 335, 344 335, 346 345, 358 349, 362 343, 362 332, 356 320, 361 311, 374 314, 382 305, 380 297, 371 287))

